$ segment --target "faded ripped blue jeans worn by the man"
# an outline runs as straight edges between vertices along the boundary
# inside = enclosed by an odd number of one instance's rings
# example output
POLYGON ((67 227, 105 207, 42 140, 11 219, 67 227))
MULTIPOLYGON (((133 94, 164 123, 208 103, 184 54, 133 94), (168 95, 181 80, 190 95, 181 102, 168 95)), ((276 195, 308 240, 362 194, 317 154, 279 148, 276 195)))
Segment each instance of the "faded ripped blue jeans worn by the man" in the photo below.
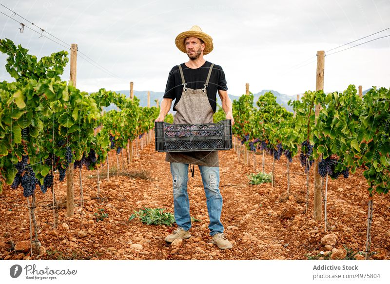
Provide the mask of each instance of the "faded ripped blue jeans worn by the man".
MULTIPOLYGON (((210 235, 223 233, 221 223, 222 195, 219 192, 219 167, 198 166, 206 193, 209 212, 210 235)), ((187 193, 188 163, 171 162, 175 220, 178 227, 188 231, 191 228, 190 201, 187 193)))

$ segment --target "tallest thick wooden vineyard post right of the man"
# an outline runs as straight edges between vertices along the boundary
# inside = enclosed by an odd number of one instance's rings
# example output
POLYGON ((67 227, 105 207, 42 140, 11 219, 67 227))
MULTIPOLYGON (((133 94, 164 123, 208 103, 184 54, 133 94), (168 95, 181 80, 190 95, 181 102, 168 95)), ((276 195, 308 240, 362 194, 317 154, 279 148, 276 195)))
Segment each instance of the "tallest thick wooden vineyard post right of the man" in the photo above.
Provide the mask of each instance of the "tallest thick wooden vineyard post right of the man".
MULTIPOLYGON (((317 76, 315 81, 315 90, 324 89, 324 65, 325 65, 325 52, 323 50, 317 51, 317 76)), ((317 123, 318 116, 320 114, 320 104, 315 105, 315 123, 317 123)), ((321 176, 318 173, 318 162, 322 158, 322 155, 314 161, 314 212, 313 217, 315 221, 321 222, 322 220, 322 204, 321 204, 321 176)), ((326 226, 326 225, 325 225, 326 226)))

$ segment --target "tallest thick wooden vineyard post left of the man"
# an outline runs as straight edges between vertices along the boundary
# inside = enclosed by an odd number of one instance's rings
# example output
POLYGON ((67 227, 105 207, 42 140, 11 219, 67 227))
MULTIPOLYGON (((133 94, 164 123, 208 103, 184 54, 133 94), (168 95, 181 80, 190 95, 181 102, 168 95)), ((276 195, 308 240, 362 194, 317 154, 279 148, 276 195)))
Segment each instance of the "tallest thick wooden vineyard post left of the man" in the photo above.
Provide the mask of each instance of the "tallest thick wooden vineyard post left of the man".
MULTIPOLYGON (((77 78, 77 44, 71 44, 70 51, 70 79, 73 86, 76 87, 77 78)), ((73 163, 69 163, 66 171, 66 215, 73 216, 74 213, 74 191, 73 191, 73 163)))

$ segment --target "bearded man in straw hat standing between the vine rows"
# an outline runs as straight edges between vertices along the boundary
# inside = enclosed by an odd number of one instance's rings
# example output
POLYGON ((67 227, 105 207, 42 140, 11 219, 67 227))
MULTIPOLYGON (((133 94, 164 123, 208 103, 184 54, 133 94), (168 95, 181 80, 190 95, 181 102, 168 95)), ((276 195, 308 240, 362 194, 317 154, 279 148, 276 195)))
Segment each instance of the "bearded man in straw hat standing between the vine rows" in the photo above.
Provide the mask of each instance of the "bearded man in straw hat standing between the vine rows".
MULTIPOLYGON (((164 121, 171 109, 172 101, 176 100, 173 108, 176 111, 174 124, 212 123, 218 90, 226 119, 230 119, 233 125, 232 101, 228 97, 225 73, 221 66, 203 59, 203 55, 213 50, 213 39, 202 32, 200 27, 193 26, 189 31, 180 33, 175 42, 177 48, 186 53, 190 60, 176 65, 169 73, 156 122, 164 121)), ((222 196, 219 192, 218 151, 167 152, 165 161, 171 162, 175 220, 178 226, 165 241, 172 243, 175 239, 191 237, 190 203, 187 193, 188 165, 197 164, 207 199, 212 243, 220 249, 232 248, 232 243, 223 234, 224 228, 220 221, 222 196)))

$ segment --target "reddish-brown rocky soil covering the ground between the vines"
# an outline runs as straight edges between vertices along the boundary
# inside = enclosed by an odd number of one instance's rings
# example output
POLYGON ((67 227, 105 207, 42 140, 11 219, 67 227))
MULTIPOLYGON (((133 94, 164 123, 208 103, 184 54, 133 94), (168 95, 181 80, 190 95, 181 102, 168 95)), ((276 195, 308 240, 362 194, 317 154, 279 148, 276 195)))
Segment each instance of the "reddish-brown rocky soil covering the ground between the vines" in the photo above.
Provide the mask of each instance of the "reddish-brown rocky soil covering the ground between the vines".
MULTIPOLYGON (((173 213, 172 176, 165 154, 157 153, 154 143, 139 150, 139 158, 130 166, 123 163, 120 174, 105 179, 106 166, 100 169, 101 192, 97 197, 96 171, 82 170, 84 207, 79 206, 78 170, 75 171, 75 215, 66 217, 66 182, 56 180, 60 203, 59 225, 53 229, 52 193, 42 194, 37 187, 36 219, 39 242, 30 256, 30 221, 27 200, 22 189, 8 185, 0 194, 0 259, 100 259, 100 260, 307 260, 362 259, 367 230, 367 183, 359 169, 350 178, 329 181, 328 222, 312 219, 313 181, 310 179, 309 211, 305 214, 306 175, 297 158, 290 164, 291 188, 287 196, 286 159, 275 164, 275 185, 249 184, 254 172, 253 156, 243 162, 234 150, 219 151, 220 191, 223 196, 221 221, 233 248, 220 250, 211 243, 206 199, 195 166, 189 173, 188 192, 194 222, 192 237, 164 242, 175 228, 129 221, 143 207, 166 208, 173 213), (61 203, 62 201, 62 203, 61 203), (104 210, 104 211, 103 211, 104 210), (96 214, 95 214, 96 213, 96 214), (97 215, 108 214, 99 221, 97 215)), ((110 167, 116 170, 115 152, 110 167)), ((261 155, 255 155, 257 171, 261 155)), ((122 162, 122 158, 119 159, 122 162)), ((266 157, 266 172, 272 170, 272 158, 266 157)), ((56 177, 58 179, 58 177, 56 177)), ((372 222, 370 259, 390 259, 390 194, 376 195, 372 222)))

